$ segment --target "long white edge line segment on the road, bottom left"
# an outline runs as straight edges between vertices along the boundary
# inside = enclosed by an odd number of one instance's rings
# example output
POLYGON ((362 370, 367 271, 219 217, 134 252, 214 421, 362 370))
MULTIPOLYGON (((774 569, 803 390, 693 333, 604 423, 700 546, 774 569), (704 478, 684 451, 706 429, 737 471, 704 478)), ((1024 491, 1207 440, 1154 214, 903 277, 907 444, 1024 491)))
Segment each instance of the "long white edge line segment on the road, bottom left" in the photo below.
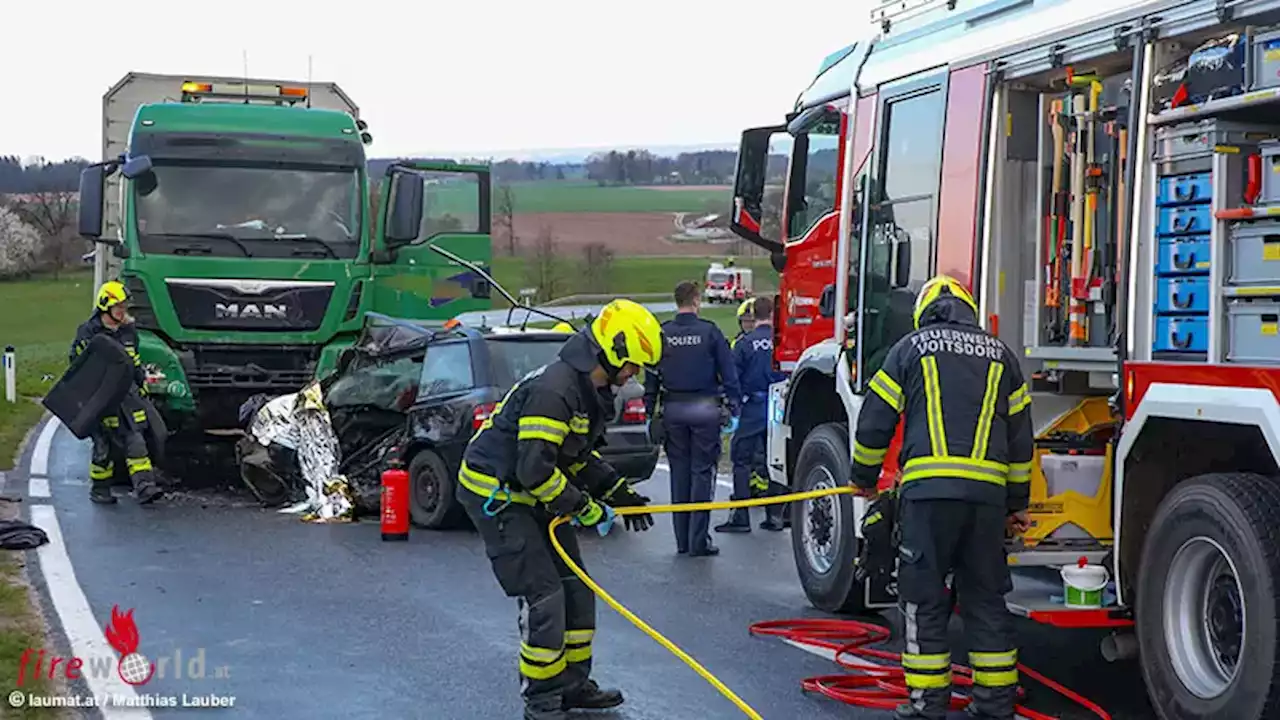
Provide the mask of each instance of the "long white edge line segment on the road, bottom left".
MULTIPOLYGON (((36 551, 36 556, 40 559, 40 574, 44 575, 45 584, 49 587, 54 611, 58 614, 59 624, 72 646, 72 655, 82 659, 86 666, 90 665, 91 659, 115 657, 115 651, 108 644, 101 625, 97 624, 93 611, 90 610, 88 598, 84 597, 84 591, 79 585, 79 580, 76 579, 76 569, 72 568, 72 559, 67 555, 63 530, 58 524, 54 506, 32 505, 31 523, 49 536, 49 543, 41 546, 36 551)), ((99 660, 99 662, 101 661, 99 660)), ((131 705, 129 707, 116 705, 101 707, 104 720, 151 717, 150 710, 134 706, 138 702, 137 692, 116 674, 113 673, 106 678, 97 676, 97 673, 83 673, 82 675, 88 683, 90 692, 95 696, 110 694, 116 700, 123 696, 127 698, 124 703, 131 705)))

